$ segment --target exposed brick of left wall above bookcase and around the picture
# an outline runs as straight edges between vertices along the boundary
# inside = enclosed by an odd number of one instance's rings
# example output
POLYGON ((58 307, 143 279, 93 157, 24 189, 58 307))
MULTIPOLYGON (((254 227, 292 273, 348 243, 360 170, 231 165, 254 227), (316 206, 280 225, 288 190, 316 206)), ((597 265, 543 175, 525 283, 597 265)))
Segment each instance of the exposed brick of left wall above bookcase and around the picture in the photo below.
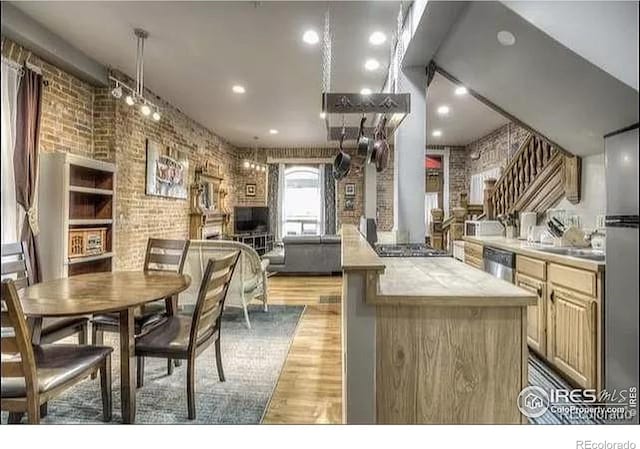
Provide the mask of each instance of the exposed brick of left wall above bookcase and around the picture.
POLYGON ((227 205, 235 203, 237 149, 161 98, 146 93, 162 109, 162 120, 154 122, 114 99, 109 88, 81 81, 4 37, 2 54, 18 63, 28 58, 42 68, 46 85, 40 151, 66 151, 115 162, 115 269, 139 269, 151 236, 188 236, 188 200, 145 194, 146 138, 189 153, 189 182, 196 164, 209 161, 219 165, 229 190, 227 205))

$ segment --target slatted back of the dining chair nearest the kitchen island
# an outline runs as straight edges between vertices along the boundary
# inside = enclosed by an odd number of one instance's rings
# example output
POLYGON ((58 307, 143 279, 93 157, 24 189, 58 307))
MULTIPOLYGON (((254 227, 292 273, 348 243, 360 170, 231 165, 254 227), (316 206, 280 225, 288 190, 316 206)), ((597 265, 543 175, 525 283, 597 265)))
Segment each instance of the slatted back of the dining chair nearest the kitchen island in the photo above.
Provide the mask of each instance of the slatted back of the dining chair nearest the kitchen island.
POLYGON ((240 251, 234 251, 207 262, 193 313, 189 350, 195 350, 199 342, 220 329, 224 302, 239 257, 240 251))

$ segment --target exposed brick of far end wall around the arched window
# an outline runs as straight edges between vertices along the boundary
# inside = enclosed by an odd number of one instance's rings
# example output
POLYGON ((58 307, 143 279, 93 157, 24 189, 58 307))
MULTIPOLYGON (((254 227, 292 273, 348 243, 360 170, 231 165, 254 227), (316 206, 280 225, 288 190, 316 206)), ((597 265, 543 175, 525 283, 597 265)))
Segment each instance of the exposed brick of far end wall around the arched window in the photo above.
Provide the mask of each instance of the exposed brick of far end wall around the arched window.
MULTIPOLYGON (((262 190, 266 186, 266 175, 247 172, 242 168, 243 158, 253 159, 257 157, 258 161, 266 163, 268 158, 273 159, 291 159, 291 160, 308 160, 309 163, 318 159, 333 159, 337 150, 334 148, 260 148, 257 153, 253 149, 242 149, 239 151, 239 159, 236 170, 236 180, 239 188, 244 189, 247 182, 256 182, 257 193, 255 198, 247 198, 244 190, 238 192, 238 203, 247 205, 264 205, 267 202, 266 190, 262 190), (257 154, 257 156, 254 156, 257 154)), ((340 180, 337 189, 337 226, 342 223, 358 224, 360 216, 364 214, 364 172, 360 169, 362 161, 355 156, 355 150, 348 149, 347 152, 352 157, 352 169, 349 175, 340 180), (347 211, 345 205, 345 186, 353 183, 356 185, 356 195, 354 198, 354 210, 347 211)), ((377 183, 378 195, 378 226, 382 231, 389 231, 393 228, 393 148, 389 154, 389 166, 384 173, 378 174, 377 183)))

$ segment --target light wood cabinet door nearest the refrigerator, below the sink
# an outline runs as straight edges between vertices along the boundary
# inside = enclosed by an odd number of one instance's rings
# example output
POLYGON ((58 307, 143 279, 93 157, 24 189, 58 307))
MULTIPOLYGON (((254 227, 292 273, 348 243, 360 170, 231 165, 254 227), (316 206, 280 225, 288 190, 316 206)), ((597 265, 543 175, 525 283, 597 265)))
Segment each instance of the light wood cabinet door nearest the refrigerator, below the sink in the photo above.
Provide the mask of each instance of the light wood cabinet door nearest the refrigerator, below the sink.
POLYGON ((547 358, 583 388, 596 388, 596 299, 549 283, 547 358))

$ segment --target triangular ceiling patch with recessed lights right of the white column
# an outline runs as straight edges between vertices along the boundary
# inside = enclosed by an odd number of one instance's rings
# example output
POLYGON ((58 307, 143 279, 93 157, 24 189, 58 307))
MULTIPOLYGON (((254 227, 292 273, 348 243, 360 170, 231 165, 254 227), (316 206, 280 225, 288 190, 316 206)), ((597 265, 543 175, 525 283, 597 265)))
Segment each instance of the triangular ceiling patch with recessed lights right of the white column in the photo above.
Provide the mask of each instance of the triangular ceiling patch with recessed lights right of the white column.
POLYGON ((455 95, 457 86, 436 73, 427 89, 427 145, 467 145, 506 125, 509 120, 471 95, 455 95), (440 115, 440 106, 449 106, 448 115, 440 115), (433 137, 434 130, 442 131, 433 137))

